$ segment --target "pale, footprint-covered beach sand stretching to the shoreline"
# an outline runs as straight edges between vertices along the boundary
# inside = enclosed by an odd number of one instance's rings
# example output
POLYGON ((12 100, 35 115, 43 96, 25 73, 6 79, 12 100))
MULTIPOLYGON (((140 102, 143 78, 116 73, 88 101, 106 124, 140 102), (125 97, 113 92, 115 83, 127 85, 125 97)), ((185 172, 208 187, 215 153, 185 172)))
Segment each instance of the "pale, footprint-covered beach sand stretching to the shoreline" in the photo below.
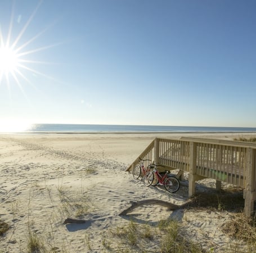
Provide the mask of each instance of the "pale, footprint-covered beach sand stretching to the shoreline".
MULTIPOLYGON (((132 223, 152 231, 159 220, 176 219, 183 235, 214 252, 230 251, 233 241, 221 231, 227 211, 170 211, 144 205, 119 216, 130 201, 188 201, 186 177, 178 192, 145 187, 125 171, 155 137, 233 139, 251 134, 1 134, 0 220, 10 229, 0 237, 0 252, 29 252, 29 238, 46 252, 161 252, 159 237, 132 247, 116 237, 132 223), (85 223, 65 223, 67 218, 85 223), (129 249, 129 250, 127 250, 129 249)), ((254 134, 255 136, 255 134, 254 134)), ((198 182, 208 191, 211 180, 198 182)), ((154 233, 154 232, 153 232, 154 233)))

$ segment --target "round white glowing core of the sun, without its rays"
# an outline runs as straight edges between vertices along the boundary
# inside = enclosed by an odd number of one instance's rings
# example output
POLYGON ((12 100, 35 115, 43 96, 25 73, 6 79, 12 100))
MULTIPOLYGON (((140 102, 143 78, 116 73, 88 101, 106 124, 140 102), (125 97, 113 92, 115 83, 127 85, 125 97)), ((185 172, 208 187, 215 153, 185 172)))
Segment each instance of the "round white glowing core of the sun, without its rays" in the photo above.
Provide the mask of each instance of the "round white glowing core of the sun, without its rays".
POLYGON ((0 47, 0 73, 12 74, 17 70, 19 64, 19 57, 10 47, 0 47))

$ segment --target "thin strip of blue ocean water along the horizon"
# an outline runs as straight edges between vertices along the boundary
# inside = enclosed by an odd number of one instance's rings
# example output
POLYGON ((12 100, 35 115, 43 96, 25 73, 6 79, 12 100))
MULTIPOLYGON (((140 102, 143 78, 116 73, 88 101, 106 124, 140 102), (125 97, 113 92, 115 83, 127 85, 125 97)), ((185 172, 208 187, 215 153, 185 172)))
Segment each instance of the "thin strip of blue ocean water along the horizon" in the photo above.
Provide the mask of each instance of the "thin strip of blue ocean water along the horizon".
POLYGON ((23 133, 224 133, 255 132, 256 128, 216 126, 34 124, 23 133))

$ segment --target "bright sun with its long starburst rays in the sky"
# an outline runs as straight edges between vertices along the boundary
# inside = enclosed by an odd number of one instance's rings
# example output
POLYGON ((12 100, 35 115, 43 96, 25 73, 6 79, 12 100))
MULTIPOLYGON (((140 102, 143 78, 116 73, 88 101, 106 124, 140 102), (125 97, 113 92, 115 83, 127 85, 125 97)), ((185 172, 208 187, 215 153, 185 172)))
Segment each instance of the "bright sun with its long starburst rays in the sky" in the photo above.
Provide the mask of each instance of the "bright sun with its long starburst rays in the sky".
POLYGON ((14 16, 15 16, 14 5, 12 5, 10 26, 7 33, 5 29, 4 30, 2 29, 1 20, 0 20, 0 87, 1 87, 1 84, 6 84, 8 89, 11 90, 10 89, 11 83, 14 82, 19 86, 19 88, 25 95, 22 81, 25 80, 26 83, 34 86, 33 82, 29 80, 29 73, 30 73, 30 77, 31 77, 31 73, 33 73, 33 75, 43 76, 44 78, 55 80, 51 76, 43 74, 37 70, 38 65, 40 64, 47 65, 47 64, 51 64, 51 62, 31 60, 31 58, 35 58, 35 55, 34 57, 33 56, 29 57, 29 55, 33 55, 37 52, 43 51, 51 47, 55 47, 60 44, 60 43, 56 43, 56 44, 51 44, 49 46, 34 47, 35 44, 33 44, 33 42, 35 42, 35 40, 37 40, 41 35, 43 35, 48 30, 48 28, 50 28, 52 25, 48 26, 42 31, 39 31, 32 38, 29 38, 29 39, 23 38, 25 31, 28 29, 30 23, 33 20, 33 17, 35 16, 35 13, 37 13, 41 4, 42 4, 42 1, 39 1, 37 6, 35 7, 35 10, 32 12, 31 16, 24 23, 23 28, 21 28, 20 32, 17 33, 16 36, 12 34, 13 26, 14 24, 16 24, 16 22, 14 22, 14 16), (21 43, 21 41, 23 41, 23 43, 21 43))

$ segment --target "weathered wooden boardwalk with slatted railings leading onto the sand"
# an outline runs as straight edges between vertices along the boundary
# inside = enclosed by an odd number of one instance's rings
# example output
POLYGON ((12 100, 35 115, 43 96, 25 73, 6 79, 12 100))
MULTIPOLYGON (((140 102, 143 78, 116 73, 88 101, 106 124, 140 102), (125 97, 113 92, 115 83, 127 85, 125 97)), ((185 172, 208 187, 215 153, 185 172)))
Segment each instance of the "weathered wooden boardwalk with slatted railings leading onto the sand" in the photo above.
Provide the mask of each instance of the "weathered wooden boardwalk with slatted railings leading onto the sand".
MULTIPOLYGON (((217 139, 156 138, 141 153, 165 169, 188 172, 189 196, 195 193, 195 182, 204 178, 216 180, 216 187, 227 182, 244 188, 245 215, 253 213, 256 199, 256 143, 217 139)), ((127 171, 138 164, 134 161, 127 171)), ((146 164, 147 165, 147 164, 146 164)))

